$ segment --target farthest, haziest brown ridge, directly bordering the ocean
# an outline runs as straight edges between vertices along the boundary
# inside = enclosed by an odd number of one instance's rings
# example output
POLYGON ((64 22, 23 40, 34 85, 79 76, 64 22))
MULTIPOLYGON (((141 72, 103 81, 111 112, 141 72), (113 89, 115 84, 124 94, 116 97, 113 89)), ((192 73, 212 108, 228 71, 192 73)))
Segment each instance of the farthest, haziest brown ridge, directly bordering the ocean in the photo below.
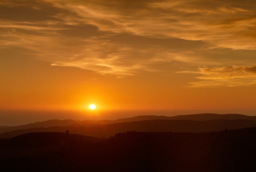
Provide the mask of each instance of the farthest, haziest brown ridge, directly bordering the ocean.
POLYGON ((156 115, 143 115, 136 116, 132 118, 122 118, 116 120, 84 120, 77 121, 71 119, 65 120, 48 120, 42 122, 31 123, 27 125, 19 126, 0 126, 0 133, 6 133, 14 130, 22 130, 28 128, 46 128, 52 126, 96 126, 96 125, 108 125, 124 122, 134 122, 134 121, 144 121, 144 120, 156 120, 156 119, 166 119, 166 120, 195 120, 195 121, 205 121, 205 120, 217 120, 217 119, 248 119, 256 120, 256 116, 246 116, 241 114, 215 114, 215 113, 204 113, 204 114, 191 114, 191 115, 178 115, 173 117, 167 116, 156 116, 156 115))

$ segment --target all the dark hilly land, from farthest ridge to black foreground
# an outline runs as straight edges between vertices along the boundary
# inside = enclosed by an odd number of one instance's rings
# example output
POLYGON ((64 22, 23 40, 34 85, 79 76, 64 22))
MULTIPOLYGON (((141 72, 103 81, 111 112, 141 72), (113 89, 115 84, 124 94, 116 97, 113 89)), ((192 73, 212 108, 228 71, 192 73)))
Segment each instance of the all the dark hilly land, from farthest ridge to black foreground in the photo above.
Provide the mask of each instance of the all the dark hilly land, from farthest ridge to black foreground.
POLYGON ((0 131, 1 171, 256 169, 255 116, 194 114, 113 121, 49 120, 2 126, 0 131), (69 133, 63 133, 66 130, 69 133))

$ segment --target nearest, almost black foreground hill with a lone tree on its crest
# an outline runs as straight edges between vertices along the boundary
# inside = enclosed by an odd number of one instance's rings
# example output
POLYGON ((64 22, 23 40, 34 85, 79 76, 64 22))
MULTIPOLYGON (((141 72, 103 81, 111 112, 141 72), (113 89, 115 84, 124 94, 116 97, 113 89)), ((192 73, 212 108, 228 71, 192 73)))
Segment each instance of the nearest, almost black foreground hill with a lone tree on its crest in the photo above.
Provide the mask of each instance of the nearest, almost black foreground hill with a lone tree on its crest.
POLYGON ((211 133, 28 133, 0 140, 1 171, 255 171, 256 127, 211 133))

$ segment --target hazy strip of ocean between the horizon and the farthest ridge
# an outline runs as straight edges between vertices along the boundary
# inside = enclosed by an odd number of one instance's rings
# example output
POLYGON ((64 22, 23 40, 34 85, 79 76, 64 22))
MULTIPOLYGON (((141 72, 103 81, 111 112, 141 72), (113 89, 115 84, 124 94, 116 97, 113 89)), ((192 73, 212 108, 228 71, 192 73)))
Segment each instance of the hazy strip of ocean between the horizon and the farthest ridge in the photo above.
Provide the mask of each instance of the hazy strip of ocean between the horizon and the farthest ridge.
POLYGON ((164 116, 176 116, 176 115, 188 115, 196 113, 239 113, 244 115, 256 116, 255 111, 196 111, 196 110, 177 110, 177 111, 36 111, 36 110, 0 110, 0 126, 11 125, 25 125, 34 122, 41 122, 50 119, 73 119, 73 120, 102 120, 109 119, 115 120, 120 118, 129 118, 139 115, 164 115, 164 116))

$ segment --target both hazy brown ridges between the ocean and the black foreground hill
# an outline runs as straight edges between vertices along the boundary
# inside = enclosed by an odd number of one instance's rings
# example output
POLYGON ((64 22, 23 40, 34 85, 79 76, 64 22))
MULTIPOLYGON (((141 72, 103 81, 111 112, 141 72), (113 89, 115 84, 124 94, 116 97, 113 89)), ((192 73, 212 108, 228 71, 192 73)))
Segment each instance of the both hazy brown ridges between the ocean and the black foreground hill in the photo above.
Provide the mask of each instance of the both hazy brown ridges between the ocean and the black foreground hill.
POLYGON ((192 114, 166 116, 136 116, 117 120, 48 120, 20 126, 0 127, 0 138, 11 138, 32 132, 64 132, 109 137, 126 131, 137 132, 211 132, 226 128, 238 129, 256 126, 256 116, 241 114, 192 114))

